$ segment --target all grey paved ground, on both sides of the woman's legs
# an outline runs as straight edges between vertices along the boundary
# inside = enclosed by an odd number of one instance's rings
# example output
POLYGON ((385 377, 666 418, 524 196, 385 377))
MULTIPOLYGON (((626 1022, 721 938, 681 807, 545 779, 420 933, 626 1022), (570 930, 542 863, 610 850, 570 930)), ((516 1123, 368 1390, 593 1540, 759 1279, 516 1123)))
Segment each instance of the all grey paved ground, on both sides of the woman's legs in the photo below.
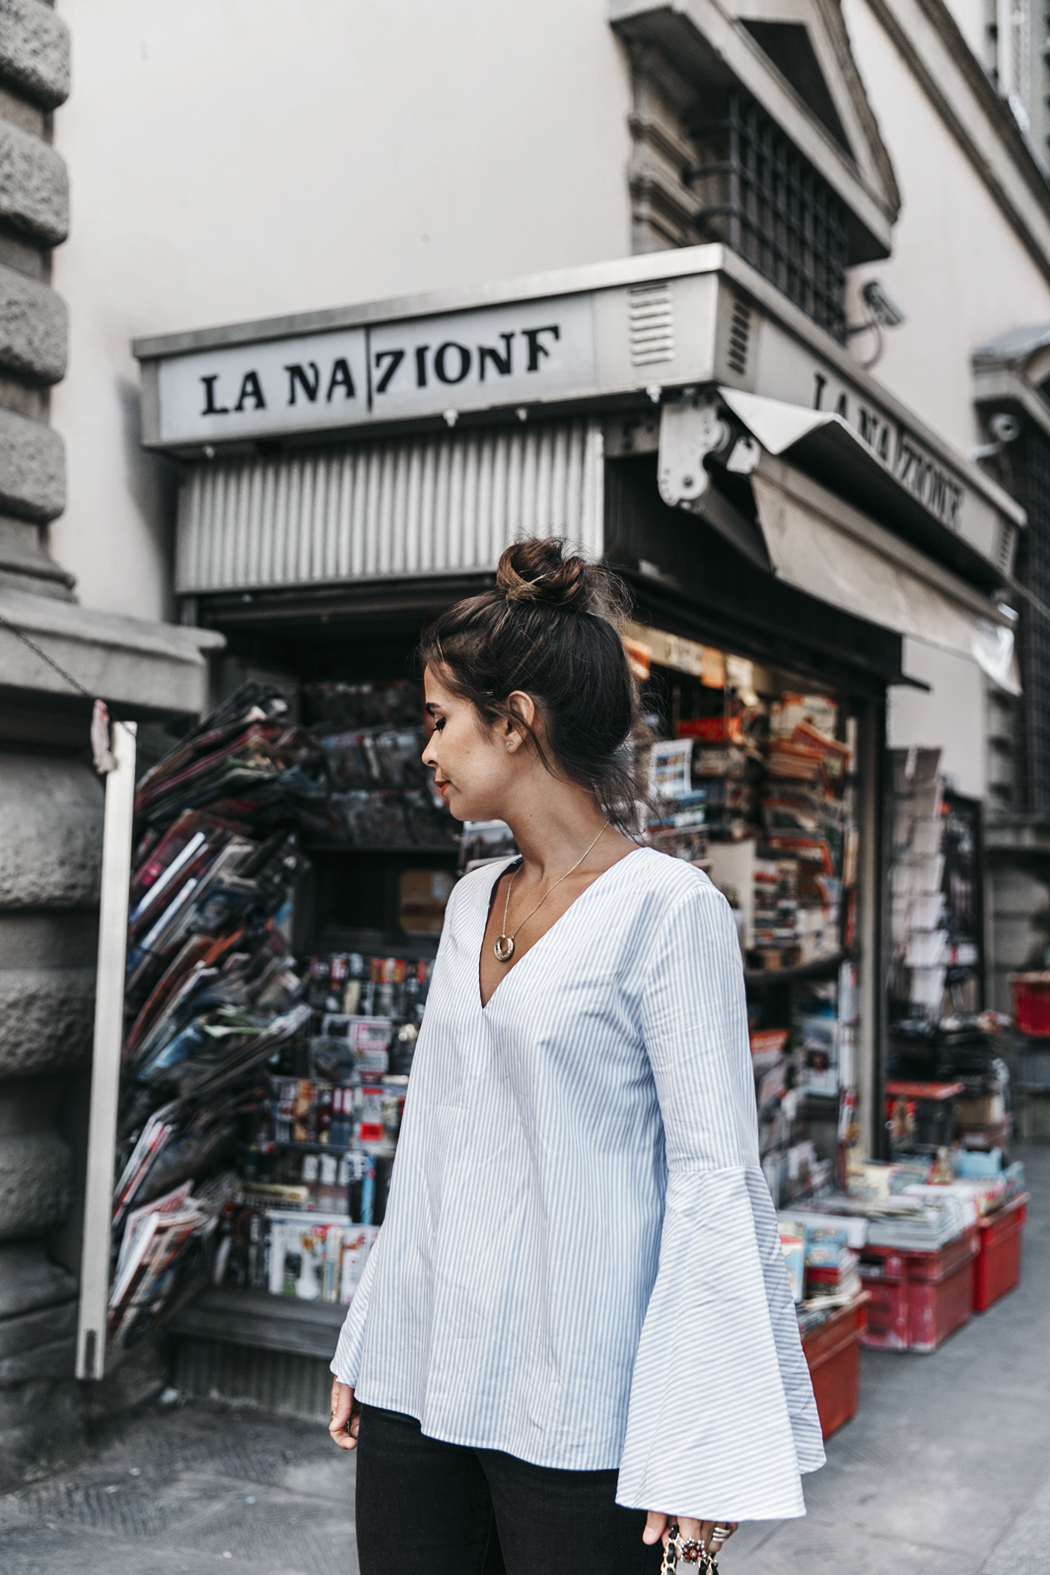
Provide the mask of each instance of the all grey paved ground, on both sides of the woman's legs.
MULTIPOLYGON (((866 1351, 860 1413, 806 1479, 808 1518, 741 1526, 723 1575, 1050 1572, 1050 1147, 1022 1156, 1020 1288, 934 1354, 866 1351)), ((357 1575, 353 1473, 323 1424, 151 1406, 107 1424, 74 1469, 0 1496, 0 1570, 357 1575)))

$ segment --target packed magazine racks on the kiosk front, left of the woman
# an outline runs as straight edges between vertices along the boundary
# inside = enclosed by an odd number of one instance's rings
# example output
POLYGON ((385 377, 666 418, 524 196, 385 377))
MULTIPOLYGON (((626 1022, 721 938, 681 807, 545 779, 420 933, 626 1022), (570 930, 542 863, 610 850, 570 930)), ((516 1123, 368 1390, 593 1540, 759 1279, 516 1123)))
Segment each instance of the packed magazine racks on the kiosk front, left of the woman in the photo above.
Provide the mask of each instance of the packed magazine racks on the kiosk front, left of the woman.
POLYGON ((115 1347, 206 1280, 346 1301, 383 1216, 431 964, 296 958, 302 843, 455 849, 458 827, 419 765, 417 684, 307 693, 301 726, 244 685, 137 788, 115 1347))

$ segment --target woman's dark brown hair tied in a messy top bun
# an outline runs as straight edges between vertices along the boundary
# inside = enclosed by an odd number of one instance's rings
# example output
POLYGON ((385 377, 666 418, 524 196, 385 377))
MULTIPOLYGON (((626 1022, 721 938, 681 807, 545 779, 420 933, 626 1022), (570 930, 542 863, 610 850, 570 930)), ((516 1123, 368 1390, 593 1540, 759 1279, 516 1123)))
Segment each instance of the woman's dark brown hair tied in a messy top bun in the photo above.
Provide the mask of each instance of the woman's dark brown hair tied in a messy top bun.
POLYGON ((494 589, 425 628, 420 658, 490 724, 521 726, 507 698, 531 695, 543 718, 532 742, 548 770, 587 788, 612 825, 634 835, 638 684, 617 627, 625 606, 606 569, 556 537, 526 537, 502 553, 494 589))

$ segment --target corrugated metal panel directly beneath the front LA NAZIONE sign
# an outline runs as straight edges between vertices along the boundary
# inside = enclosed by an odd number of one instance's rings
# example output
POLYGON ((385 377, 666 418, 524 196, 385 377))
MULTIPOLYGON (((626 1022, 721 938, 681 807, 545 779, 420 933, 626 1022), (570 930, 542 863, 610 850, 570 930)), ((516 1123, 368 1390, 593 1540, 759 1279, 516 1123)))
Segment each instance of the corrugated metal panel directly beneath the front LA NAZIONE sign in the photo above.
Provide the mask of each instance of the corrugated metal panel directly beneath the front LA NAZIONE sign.
POLYGON ((216 458, 179 496, 176 591, 460 573, 521 534, 600 554, 593 419, 216 458))

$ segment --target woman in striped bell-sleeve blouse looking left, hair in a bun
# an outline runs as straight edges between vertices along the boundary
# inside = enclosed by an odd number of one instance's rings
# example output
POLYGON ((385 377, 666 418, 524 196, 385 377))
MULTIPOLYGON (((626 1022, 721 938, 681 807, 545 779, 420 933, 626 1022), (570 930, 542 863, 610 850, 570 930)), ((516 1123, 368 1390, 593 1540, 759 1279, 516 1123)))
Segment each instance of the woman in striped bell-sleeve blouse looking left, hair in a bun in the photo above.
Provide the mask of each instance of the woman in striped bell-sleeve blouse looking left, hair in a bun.
POLYGON ((332 1362, 362 1575, 642 1575, 674 1525, 699 1559, 743 1518, 803 1515, 823 1463, 734 918, 630 835, 612 589, 519 542, 423 636, 423 761, 521 858, 449 901, 332 1362))

